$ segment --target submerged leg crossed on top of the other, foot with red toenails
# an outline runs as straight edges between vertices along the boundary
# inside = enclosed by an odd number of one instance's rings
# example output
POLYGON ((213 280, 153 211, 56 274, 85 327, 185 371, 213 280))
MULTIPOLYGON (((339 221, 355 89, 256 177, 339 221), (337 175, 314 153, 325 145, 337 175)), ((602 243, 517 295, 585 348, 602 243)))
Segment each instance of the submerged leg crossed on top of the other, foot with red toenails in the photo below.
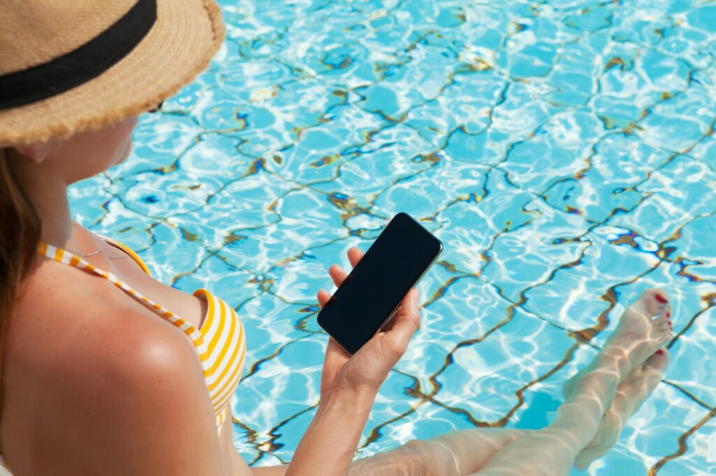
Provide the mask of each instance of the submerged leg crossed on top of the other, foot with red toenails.
POLYGON ((621 316, 619 326, 586 370, 566 385, 566 401, 552 425, 499 450, 476 474, 567 475, 596 437, 624 377, 644 364, 670 337, 664 293, 650 289, 621 316), (652 319, 654 314, 659 317, 652 319))

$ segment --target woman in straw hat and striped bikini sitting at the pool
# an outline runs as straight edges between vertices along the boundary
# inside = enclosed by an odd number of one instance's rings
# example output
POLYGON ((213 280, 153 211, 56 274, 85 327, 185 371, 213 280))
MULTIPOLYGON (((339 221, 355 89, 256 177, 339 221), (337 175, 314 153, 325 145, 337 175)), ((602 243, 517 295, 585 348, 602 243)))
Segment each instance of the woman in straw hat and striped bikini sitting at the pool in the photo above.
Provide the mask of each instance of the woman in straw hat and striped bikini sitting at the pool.
MULTIPOLYGON (((207 66, 220 11, 212 0, 63 3, 6 1, 0 12, 0 453, 13 474, 563 475, 606 452, 659 382, 670 307, 650 289, 566 383, 546 429, 461 430, 352 462, 420 325, 411 289, 353 356, 329 340, 321 402, 291 463, 249 468, 228 407, 241 319, 205 289, 150 277, 132 250, 74 222, 67 199, 70 184, 127 158, 137 114, 207 66)), ((355 266, 362 253, 348 257, 355 266)), ((329 274, 346 277, 336 265, 329 274)), ((319 304, 329 297, 321 289, 319 304)))

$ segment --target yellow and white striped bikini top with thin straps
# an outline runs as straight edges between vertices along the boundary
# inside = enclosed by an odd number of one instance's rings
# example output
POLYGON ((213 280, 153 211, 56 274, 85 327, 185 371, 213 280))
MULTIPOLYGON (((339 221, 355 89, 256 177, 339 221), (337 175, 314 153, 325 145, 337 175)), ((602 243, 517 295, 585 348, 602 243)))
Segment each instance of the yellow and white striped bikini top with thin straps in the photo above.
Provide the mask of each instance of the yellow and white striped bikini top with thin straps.
MULTIPOLYGON (((114 239, 100 235, 107 243, 124 250, 142 267, 145 273, 151 276, 147 265, 129 247, 114 239)), ((127 292, 142 304, 145 304, 161 317, 181 329, 194 343, 196 352, 204 370, 204 380, 211 397, 214 415, 216 415, 217 432, 221 435, 221 425, 228 415, 228 402, 236 392, 238 381, 243 370, 243 361, 246 357, 246 334, 238 314, 231 306, 213 296, 206 289, 197 289, 194 296, 204 296, 208 304, 204 322, 199 329, 173 314, 169 309, 145 297, 132 289, 127 283, 110 272, 92 266, 84 259, 66 249, 53 247, 51 244, 40 242, 37 249, 39 254, 54 259, 57 262, 94 272, 101 277, 109 279, 113 284, 127 292)))

